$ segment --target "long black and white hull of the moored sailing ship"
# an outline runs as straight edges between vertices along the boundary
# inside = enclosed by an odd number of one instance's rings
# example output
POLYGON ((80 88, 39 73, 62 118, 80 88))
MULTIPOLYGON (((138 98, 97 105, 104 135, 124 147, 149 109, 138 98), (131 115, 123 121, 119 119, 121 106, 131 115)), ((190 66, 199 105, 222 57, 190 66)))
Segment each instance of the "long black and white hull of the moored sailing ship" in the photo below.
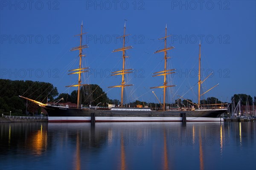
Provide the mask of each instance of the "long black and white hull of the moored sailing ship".
POLYGON ((150 109, 77 109, 45 106, 49 122, 181 122, 186 113, 187 122, 223 121, 226 109, 195 111, 151 111, 150 109), (93 118, 92 118, 93 115, 93 118), (94 118, 95 117, 95 118, 94 118))

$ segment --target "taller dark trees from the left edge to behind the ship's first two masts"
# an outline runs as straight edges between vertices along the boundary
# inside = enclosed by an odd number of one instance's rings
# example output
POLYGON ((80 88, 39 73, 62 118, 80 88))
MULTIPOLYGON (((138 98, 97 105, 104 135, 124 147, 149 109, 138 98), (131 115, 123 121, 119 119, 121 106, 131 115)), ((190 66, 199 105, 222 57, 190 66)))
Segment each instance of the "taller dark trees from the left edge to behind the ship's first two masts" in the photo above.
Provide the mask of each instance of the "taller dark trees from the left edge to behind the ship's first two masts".
MULTIPOLYGON (((21 115, 29 112, 31 115, 41 113, 41 109, 32 102, 26 101, 19 96, 24 96, 36 101, 47 103, 63 98, 60 102, 77 103, 77 90, 71 94, 58 94, 58 90, 51 83, 33 82, 23 80, 0 79, 0 114, 21 115), (48 101, 47 101, 48 99, 48 101)), ((81 87, 81 104, 84 106, 97 105, 101 102, 103 106, 109 104, 119 105, 117 99, 109 99, 107 94, 99 85, 86 85, 81 87)))

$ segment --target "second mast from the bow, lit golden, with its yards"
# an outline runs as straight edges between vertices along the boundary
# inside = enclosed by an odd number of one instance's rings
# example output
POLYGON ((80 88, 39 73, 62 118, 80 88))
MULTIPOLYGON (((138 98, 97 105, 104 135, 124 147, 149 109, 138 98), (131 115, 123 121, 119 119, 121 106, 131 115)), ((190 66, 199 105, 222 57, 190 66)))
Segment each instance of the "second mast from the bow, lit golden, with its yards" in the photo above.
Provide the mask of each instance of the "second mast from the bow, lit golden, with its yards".
POLYGON ((125 56, 125 50, 128 50, 128 49, 132 48, 132 46, 125 46, 125 37, 130 35, 130 34, 125 35, 125 29, 126 29, 126 26, 124 27, 124 35, 121 36, 121 37, 117 37, 117 38, 123 38, 123 47, 115 49, 115 50, 112 51, 112 52, 122 51, 122 59, 123 59, 122 70, 121 71, 115 71, 115 72, 111 73, 111 76, 122 75, 122 82, 121 82, 121 85, 115 85, 115 86, 108 87, 108 88, 121 87, 121 107, 123 106, 124 88, 125 88, 125 86, 131 86, 131 85, 125 85, 125 74, 132 73, 131 70, 133 70, 133 69, 125 69, 125 58, 129 57, 129 56, 125 56))

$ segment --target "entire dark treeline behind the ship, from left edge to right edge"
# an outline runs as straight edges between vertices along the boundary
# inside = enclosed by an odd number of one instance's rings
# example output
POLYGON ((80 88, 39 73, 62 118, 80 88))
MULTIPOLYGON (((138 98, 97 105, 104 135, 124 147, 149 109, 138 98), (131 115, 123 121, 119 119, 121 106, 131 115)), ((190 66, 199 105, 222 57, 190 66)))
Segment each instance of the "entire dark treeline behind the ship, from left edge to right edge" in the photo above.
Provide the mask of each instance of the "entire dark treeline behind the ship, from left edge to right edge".
MULTIPOLYGON (((42 103, 53 102, 58 99, 63 98, 60 102, 71 102, 77 103, 77 90, 71 92, 71 94, 58 94, 58 90, 51 83, 47 82, 33 82, 33 81, 23 81, 23 80, 9 80, 9 79, 0 79, 0 114, 9 114, 10 111, 16 114, 26 114, 26 111, 29 112, 38 112, 40 108, 33 104, 32 102, 26 103, 24 99, 21 99, 19 96, 28 97, 30 99, 35 99, 42 103), (48 99, 48 101, 47 101, 48 99)), ((97 105, 101 102, 102 106, 108 106, 108 104, 119 105, 120 101, 117 99, 109 99, 107 94, 99 87, 99 85, 85 85, 81 87, 80 95, 81 105, 97 105)), ((241 105, 255 105, 256 96, 254 99, 247 94, 234 94, 231 97, 231 101, 234 99, 235 105, 238 101, 241 101, 241 105)), ((170 107, 182 107, 185 105, 187 108, 192 104, 191 99, 177 99, 175 103, 166 103, 166 106, 170 107)), ((227 102, 222 102, 215 97, 208 97, 200 101, 201 105, 212 105, 212 104, 224 104, 227 102)), ((197 103, 194 103, 197 104, 197 103)), ((160 103, 153 102, 144 102, 136 100, 135 102, 130 102, 124 104, 127 107, 136 107, 137 105, 142 105, 143 107, 157 107, 161 108, 160 103)), ((195 106, 195 105, 194 105, 195 106)), ((13 115, 13 114, 12 114, 13 115)))

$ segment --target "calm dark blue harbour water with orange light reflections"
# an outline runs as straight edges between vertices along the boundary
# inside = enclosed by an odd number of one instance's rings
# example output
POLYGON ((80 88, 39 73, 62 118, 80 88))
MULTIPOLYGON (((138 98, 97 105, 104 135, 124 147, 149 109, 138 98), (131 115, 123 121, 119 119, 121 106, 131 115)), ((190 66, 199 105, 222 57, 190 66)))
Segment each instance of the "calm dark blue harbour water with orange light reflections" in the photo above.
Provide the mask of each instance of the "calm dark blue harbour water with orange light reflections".
POLYGON ((1 123, 0 169, 256 169, 256 123, 1 123))

